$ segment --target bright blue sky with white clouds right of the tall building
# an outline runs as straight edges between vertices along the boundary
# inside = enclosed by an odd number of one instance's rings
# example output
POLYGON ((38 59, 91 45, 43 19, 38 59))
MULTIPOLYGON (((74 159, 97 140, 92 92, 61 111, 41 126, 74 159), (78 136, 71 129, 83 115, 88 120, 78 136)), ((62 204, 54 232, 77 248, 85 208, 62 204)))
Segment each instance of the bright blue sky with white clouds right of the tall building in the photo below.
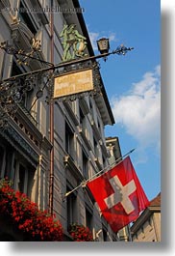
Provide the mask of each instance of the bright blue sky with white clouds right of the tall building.
POLYGON ((100 60, 101 75, 115 125, 106 136, 118 136, 122 154, 131 155, 149 200, 161 191, 161 1, 80 0, 95 54, 96 40, 110 39, 135 47, 125 56, 100 60))

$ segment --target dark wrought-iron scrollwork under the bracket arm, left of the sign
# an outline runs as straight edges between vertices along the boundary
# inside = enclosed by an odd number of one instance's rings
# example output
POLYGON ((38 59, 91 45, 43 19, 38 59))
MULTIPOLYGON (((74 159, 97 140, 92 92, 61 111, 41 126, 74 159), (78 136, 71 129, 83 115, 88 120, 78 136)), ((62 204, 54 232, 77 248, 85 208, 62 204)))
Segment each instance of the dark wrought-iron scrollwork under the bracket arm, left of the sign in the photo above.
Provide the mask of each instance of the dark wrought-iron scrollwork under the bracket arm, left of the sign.
MULTIPOLYGON (((34 103, 43 96, 42 92, 45 88, 48 91, 48 100, 52 98, 53 94, 53 71, 42 71, 36 74, 28 74, 13 79, 0 82, 0 128, 6 128, 8 119, 11 115, 15 114, 19 105, 23 105, 23 100, 26 95, 38 88, 36 100, 34 103)), ((33 103, 33 105, 34 105, 33 103)), ((32 109, 31 106, 30 110, 32 109)))

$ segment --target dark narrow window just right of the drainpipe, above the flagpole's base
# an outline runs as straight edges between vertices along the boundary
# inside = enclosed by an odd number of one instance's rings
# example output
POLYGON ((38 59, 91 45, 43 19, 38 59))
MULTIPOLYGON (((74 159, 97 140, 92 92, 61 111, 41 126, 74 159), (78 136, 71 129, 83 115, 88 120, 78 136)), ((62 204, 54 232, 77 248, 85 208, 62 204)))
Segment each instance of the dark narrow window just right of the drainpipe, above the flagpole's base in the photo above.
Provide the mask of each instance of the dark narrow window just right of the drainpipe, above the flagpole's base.
POLYGON ((74 133, 71 128, 65 123, 65 151, 73 157, 74 149, 74 133))

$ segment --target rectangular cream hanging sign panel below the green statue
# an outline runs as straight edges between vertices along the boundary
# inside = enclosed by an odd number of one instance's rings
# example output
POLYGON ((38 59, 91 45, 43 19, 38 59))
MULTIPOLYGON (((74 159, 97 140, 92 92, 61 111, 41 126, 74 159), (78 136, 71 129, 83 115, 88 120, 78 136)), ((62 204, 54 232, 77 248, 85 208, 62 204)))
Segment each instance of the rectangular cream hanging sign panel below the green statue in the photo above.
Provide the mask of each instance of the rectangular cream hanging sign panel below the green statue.
POLYGON ((93 90, 92 70, 75 71, 55 77, 54 99, 93 90))

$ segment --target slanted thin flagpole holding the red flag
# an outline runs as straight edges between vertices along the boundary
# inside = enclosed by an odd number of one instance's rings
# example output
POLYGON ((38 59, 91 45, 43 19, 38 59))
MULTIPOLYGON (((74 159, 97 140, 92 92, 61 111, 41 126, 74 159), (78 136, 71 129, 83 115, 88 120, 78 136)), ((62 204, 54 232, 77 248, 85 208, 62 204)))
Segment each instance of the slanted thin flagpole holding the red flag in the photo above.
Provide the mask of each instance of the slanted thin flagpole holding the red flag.
POLYGON ((100 173, 104 172, 106 169, 109 169, 109 168, 111 168, 111 167, 115 167, 116 165, 118 165, 118 164, 123 160, 124 157, 130 155, 130 154, 133 153, 135 150, 136 150, 136 149, 133 149, 133 150, 129 151, 128 153, 126 153, 125 155, 120 156, 119 158, 117 158, 117 159, 112 163, 112 165, 109 165, 108 167, 104 168, 103 170, 101 170, 101 171, 95 173, 95 174, 92 175, 89 179, 87 179, 86 181, 82 182, 80 185, 77 185, 77 186, 76 186, 75 188, 73 188, 72 190, 66 192, 66 193, 64 194, 64 196, 63 196, 63 199, 64 199, 65 197, 67 197, 69 194, 71 194, 72 192, 74 192, 75 190, 77 190, 79 187, 81 187, 81 186, 86 186, 86 185, 87 185, 87 182, 89 182, 90 180, 92 180, 94 177, 96 177, 96 176, 99 175, 100 173), (118 162, 118 161, 119 161, 119 162, 118 162), (117 163, 116 163, 116 162, 117 162, 117 163), (116 164, 114 164, 114 163, 116 163, 116 164))

